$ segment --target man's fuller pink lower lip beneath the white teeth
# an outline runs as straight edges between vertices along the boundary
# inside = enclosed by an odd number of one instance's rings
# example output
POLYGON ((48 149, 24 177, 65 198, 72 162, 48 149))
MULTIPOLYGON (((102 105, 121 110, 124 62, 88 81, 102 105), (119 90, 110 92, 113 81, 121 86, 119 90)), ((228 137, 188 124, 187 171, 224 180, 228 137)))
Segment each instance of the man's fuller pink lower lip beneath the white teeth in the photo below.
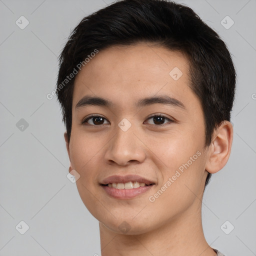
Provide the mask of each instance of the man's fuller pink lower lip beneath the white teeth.
POLYGON ((153 185, 140 186, 140 187, 131 188, 131 189, 118 189, 118 188, 104 186, 104 185, 101 185, 101 186, 103 187, 103 189, 106 191, 106 193, 108 195, 110 195, 114 198, 129 199, 129 198, 133 198, 135 196, 138 196, 142 193, 145 193, 146 191, 151 189, 151 187, 153 185))

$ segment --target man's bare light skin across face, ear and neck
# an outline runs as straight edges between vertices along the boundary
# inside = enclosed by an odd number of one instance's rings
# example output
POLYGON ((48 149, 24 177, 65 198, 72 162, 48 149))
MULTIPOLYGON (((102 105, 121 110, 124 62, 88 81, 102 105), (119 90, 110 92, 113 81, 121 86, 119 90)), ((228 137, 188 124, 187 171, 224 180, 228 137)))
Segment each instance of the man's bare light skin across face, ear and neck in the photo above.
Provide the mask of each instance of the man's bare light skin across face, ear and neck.
POLYGON ((204 148, 202 108, 188 84, 188 60, 182 53, 144 42, 101 50, 78 72, 70 142, 66 133, 64 138, 69 171, 79 173, 80 197, 99 221, 102 256, 216 255, 203 235, 201 199, 206 170, 215 173, 226 164, 233 131, 224 121, 204 148), (183 73, 177 80, 169 75, 174 67, 183 73), (114 105, 75 109, 85 95, 106 98, 114 105), (136 100, 157 95, 174 97, 185 109, 159 103, 135 107, 136 100), (164 124, 148 118, 154 113, 166 116, 164 124), (92 118, 81 124, 90 114, 105 118, 103 124, 92 118), (123 118, 131 123, 125 132, 118 126, 123 118), (197 151, 200 156, 149 201, 197 151), (138 174, 155 185, 135 198, 115 199, 99 184, 114 174, 138 174), (126 233, 118 228, 123 221, 130 228, 126 233))

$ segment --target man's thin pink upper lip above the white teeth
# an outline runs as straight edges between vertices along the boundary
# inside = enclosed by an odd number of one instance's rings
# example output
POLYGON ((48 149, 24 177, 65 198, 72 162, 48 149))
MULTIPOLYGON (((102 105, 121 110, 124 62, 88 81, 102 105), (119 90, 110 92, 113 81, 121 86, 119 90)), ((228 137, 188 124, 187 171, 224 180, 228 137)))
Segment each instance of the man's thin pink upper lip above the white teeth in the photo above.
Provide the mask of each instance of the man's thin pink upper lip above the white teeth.
POLYGON ((120 176, 120 175, 109 176, 102 181, 101 185, 106 185, 109 183, 127 183, 129 181, 143 182, 146 185, 154 184, 153 181, 143 178, 139 175, 129 174, 125 176, 120 176))

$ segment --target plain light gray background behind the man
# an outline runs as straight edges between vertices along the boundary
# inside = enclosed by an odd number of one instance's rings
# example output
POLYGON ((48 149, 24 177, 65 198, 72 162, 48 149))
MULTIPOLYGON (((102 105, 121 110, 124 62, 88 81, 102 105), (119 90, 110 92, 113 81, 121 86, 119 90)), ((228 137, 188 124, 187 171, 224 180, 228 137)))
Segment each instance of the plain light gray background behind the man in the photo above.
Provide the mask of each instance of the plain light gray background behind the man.
MULTIPOLYGON (((56 97, 46 94, 71 29, 110 2, 0 0, 0 255, 100 255, 98 221, 66 177, 62 116, 56 97), (15 23, 21 15, 29 21, 24 29, 15 23), (24 234, 15 228, 21 220, 29 226, 24 234)), ((231 155, 205 190, 204 234, 226 256, 256 255, 256 1, 177 2, 219 33, 237 70, 231 155), (229 29, 220 23, 226 15, 234 21, 229 29)))

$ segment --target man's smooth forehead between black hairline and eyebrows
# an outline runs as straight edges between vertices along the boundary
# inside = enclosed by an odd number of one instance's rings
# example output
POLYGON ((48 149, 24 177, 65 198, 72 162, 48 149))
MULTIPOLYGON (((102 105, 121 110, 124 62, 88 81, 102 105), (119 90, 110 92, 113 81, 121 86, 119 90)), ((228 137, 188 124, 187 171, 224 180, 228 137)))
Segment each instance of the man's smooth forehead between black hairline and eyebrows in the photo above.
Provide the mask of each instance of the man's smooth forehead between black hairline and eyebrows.
POLYGON ((165 47, 144 42, 110 46, 99 50, 76 75, 73 108, 86 94, 114 99, 120 107, 157 93, 182 102, 191 93, 188 68, 184 54, 165 47))

